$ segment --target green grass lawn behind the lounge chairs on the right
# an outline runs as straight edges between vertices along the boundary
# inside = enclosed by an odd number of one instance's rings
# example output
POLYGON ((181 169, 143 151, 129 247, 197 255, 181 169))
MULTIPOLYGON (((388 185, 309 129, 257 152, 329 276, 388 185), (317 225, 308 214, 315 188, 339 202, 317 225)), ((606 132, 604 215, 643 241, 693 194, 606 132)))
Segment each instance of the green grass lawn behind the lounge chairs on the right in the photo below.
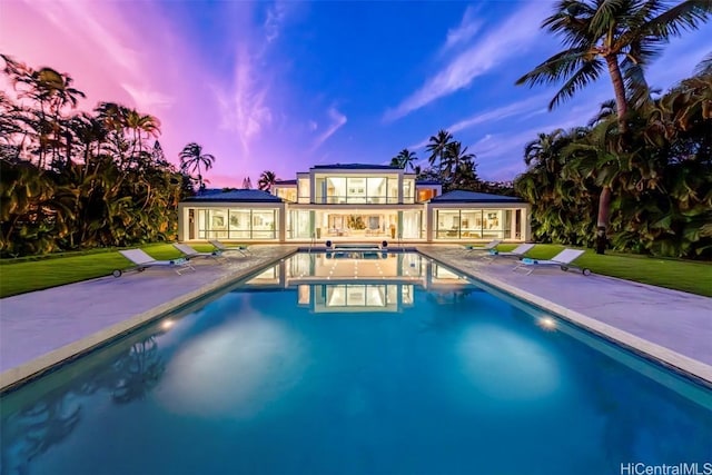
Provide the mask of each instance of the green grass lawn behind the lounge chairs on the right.
MULTIPOLYGON (((512 250, 514 245, 501 245, 501 250, 512 250)), ((548 259, 558 254, 565 246, 537 244, 527 253, 535 259, 548 259)), ((712 263, 655 258, 634 254, 606 253, 595 254, 592 249, 574 263, 587 267, 594 274, 619 277, 637 283, 650 284, 691 294, 712 297, 712 263)))

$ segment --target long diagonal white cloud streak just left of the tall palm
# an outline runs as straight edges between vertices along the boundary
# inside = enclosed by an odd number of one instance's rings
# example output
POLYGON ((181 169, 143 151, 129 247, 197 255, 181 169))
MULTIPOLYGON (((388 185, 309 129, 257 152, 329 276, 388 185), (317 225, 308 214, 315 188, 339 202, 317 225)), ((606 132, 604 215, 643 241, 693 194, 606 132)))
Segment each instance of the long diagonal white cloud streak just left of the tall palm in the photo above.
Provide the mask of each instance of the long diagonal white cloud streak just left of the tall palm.
POLYGON ((527 2, 524 8, 492 30, 484 39, 457 55, 444 69, 407 97, 395 109, 388 109, 385 120, 395 120, 429 102, 469 86, 475 78, 486 73, 513 56, 525 52, 535 37, 542 34, 537 22, 548 2, 527 2))

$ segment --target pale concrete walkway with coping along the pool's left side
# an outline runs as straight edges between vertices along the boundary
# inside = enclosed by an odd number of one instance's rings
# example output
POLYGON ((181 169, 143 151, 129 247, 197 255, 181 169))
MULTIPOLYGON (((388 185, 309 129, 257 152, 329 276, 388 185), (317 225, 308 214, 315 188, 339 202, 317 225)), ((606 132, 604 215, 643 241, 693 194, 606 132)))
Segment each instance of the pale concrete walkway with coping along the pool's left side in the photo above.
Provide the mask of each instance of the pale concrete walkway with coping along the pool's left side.
POLYGON ((0 389, 166 311, 196 300, 294 253, 253 246, 253 256, 220 265, 192 259, 196 271, 147 269, 0 299, 0 389))

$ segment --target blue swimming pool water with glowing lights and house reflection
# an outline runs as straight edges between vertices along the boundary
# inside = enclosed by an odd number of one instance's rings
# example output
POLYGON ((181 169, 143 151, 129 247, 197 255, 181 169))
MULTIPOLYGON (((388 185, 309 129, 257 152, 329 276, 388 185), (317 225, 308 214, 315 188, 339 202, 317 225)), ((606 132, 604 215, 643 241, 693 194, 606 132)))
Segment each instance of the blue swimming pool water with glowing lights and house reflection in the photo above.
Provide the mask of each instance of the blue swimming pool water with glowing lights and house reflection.
POLYGON ((712 394, 415 254, 296 255, 1 399, 2 474, 619 474, 712 394))

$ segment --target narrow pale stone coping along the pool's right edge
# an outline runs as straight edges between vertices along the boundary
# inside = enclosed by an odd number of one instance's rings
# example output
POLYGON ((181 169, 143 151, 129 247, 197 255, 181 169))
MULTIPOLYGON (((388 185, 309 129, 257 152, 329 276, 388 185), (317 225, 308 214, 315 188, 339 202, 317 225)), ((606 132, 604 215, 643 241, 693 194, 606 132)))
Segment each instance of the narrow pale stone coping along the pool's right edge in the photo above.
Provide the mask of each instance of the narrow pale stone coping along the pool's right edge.
POLYGON ((640 336, 633 335, 629 331, 597 320, 593 317, 589 317, 581 311, 566 308, 563 305, 556 304, 546 298, 523 290, 498 278, 484 274, 474 275, 472 270, 461 267, 456 261, 451 263, 451 259, 444 259, 442 256, 433 255, 428 250, 422 249, 421 247, 417 248, 417 251, 431 259, 435 259, 448 267, 452 267, 453 269, 456 269, 459 273, 463 273, 474 280, 482 281, 498 289, 500 291, 520 298, 527 304, 551 311, 552 314, 563 317, 572 324, 580 326, 584 330, 591 331, 594 335, 600 335, 614 344, 621 345, 623 348, 629 348, 635 353, 641 354, 641 356, 649 357, 654 362, 671 368, 672 370, 676 370, 683 376, 688 376, 693 379, 696 378, 705 383, 706 385, 712 385, 712 366, 703 362, 694 359, 690 356, 682 355, 673 349, 655 344, 640 336))

